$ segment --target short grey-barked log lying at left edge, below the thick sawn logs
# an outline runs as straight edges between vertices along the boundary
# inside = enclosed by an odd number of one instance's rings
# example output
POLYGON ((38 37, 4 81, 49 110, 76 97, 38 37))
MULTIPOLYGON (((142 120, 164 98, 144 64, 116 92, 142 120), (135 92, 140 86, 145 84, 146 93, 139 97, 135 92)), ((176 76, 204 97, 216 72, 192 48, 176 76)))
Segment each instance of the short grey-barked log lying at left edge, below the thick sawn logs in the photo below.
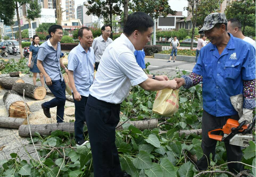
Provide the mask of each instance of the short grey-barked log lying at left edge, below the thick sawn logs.
POLYGON ((0 127, 18 129, 24 121, 23 118, 0 117, 0 127))

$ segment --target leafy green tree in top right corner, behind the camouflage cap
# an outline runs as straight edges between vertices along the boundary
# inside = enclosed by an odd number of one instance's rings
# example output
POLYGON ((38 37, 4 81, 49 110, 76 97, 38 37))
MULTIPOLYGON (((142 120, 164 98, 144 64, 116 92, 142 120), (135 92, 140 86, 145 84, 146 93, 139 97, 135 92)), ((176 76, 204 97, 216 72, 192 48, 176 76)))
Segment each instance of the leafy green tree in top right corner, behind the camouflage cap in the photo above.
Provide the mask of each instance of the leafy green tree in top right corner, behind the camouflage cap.
POLYGON ((237 18, 242 24, 244 34, 245 27, 255 28, 255 1, 240 0, 232 1, 231 5, 225 10, 226 18, 237 18))

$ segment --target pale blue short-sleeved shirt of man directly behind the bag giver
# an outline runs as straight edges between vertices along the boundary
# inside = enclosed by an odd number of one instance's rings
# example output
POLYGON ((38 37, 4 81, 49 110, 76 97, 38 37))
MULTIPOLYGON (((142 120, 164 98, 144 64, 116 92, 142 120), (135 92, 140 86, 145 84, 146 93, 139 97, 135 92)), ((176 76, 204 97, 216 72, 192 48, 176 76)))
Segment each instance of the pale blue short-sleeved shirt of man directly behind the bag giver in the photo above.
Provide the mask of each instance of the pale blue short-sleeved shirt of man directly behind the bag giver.
POLYGON ((93 84, 94 63, 95 58, 92 47, 86 53, 79 43, 68 54, 68 70, 74 72, 76 90, 85 97, 89 96, 89 89, 93 84))

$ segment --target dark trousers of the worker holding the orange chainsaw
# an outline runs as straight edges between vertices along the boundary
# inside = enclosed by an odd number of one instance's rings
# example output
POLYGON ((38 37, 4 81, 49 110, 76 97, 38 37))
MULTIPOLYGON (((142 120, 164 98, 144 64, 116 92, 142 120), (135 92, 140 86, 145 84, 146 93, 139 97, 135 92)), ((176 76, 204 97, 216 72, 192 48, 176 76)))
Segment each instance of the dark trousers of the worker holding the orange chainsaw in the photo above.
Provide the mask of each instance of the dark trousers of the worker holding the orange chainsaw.
MULTIPOLYGON (((215 147, 217 141, 214 139, 209 138, 208 131, 215 127, 221 127, 225 125, 226 121, 231 118, 238 120, 238 115, 231 115, 231 116, 223 116, 223 117, 215 117, 208 112, 203 112, 202 117, 202 150, 204 152, 204 156, 197 161, 197 167, 199 170, 207 170, 208 166, 210 166, 210 153, 212 153, 212 160, 215 157, 215 147)), ((219 135, 221 131, 212 132, 212 134, 219 135)), ((241 162, 242 161, 242 147, 229 145, 229 143, 225 143, 226 153, 227 153, 227 160, 228 162, 235 161, 241 162)), ((228 169, 232 173, 239 173, 243 170, 243 166, 240 163, 229 163, 228 169)))

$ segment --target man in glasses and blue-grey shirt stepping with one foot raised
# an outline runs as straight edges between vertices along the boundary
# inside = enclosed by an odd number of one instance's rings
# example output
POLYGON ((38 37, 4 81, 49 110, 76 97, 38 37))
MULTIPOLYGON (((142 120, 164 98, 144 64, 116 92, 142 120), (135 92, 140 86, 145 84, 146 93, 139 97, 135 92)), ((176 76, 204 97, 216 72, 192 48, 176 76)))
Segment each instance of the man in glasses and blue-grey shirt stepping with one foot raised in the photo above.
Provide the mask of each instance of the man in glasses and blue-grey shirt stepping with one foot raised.
POLYGON ((45 83, 55 98, 43 103, 41 106, 44 115, 48 118, 51 118, 50 108, 57 106, 57 123, 62 123, 66 101, 66 85, 61 74, 61 67, 68 73, 68 69, 59 60, 63 31, 60 25, 51 25, 48 32, 51 38, 39 47, 37 67, 44 75, 45 83))

